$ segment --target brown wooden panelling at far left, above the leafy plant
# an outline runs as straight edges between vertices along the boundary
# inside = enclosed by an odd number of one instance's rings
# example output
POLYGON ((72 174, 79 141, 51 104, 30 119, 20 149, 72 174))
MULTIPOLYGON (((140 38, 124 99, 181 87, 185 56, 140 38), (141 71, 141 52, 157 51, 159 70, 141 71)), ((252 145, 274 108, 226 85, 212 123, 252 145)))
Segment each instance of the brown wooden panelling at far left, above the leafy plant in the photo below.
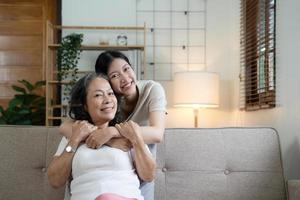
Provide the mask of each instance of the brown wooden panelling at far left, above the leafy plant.
MULTIPOLYGON (((0 1, 0 105, 7 108, 18 80, 44 80, 44 25, 57 21, 57 1, 0 1)), ((40 93, 43 94, 43 91, 40 93)))

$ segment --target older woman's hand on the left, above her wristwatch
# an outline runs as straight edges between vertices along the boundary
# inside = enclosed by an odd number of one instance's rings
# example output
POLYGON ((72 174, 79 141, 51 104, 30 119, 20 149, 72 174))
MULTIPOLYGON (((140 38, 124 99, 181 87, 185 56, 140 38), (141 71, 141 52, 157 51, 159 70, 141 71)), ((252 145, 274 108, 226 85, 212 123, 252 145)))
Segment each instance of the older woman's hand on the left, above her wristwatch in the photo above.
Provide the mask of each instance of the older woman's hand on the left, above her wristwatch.
POLYGON ((70 141, 75 144, 79 144, 96 129, 96 126, 88 123, 87 121, 75 121, 72 125, 72 136, 70 138, 70 141))

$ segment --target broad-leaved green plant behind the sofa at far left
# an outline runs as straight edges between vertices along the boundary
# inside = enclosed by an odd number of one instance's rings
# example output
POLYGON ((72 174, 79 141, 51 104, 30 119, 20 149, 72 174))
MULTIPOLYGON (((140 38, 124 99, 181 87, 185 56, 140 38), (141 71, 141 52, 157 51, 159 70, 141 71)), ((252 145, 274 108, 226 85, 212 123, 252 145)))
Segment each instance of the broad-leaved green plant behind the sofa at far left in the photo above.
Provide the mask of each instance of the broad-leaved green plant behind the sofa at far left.
POLYGON ((0 106, 0 124, 44 125, 45 97, 37 90, 45 85, 45 81, 38 81, 34 85, 26 80, 19 80, 24 87, 13 85, 17 92, 10 100, 7 109, 0 106))

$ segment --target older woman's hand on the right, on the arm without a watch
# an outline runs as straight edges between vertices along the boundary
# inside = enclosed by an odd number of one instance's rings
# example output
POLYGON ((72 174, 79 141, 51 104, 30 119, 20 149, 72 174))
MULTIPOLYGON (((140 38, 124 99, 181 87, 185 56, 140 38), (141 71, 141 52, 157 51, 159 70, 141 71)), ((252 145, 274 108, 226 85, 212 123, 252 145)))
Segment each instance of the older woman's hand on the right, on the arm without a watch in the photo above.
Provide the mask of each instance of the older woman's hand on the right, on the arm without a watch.
POLYGON ((119 133, 127 138, 133 145, 138 141, 143 140, 140 126, 133 121, 116 124, 115 127, 118 129, 119 133))

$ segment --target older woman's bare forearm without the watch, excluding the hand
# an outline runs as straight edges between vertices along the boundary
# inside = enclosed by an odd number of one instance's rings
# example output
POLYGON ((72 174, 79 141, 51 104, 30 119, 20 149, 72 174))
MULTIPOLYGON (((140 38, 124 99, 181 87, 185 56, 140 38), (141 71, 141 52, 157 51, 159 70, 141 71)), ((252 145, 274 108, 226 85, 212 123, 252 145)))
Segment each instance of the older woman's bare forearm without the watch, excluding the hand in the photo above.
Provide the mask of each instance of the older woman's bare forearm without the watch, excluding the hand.
POLYGON ((152 181, 155 177, 156 163, 142 138, 132 143, 135 151, 135 167, 139 177, 144 181, 152 181))

